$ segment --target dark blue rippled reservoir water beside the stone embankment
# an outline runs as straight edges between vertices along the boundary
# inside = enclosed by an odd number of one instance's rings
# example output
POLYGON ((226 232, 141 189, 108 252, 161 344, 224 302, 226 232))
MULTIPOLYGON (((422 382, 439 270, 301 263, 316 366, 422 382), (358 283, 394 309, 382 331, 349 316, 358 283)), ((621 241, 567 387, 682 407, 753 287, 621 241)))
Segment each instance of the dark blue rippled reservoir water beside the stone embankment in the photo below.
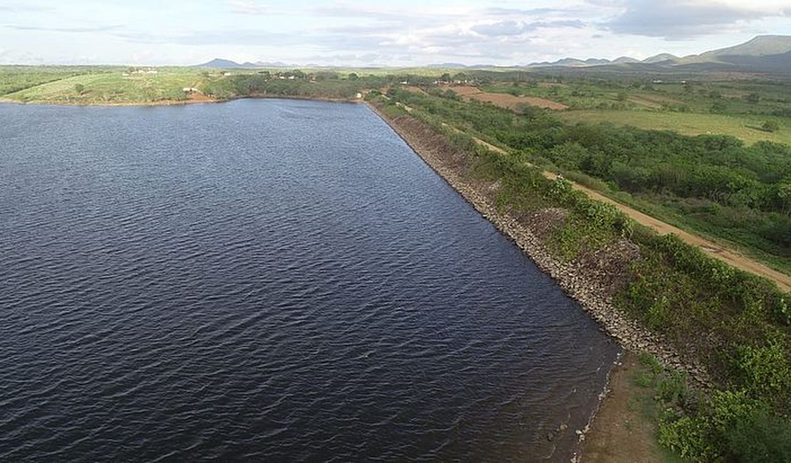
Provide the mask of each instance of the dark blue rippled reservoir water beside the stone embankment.
POLYGON ((0 105, 0 238, 0 461, 568 461, 617 351, 358 105, 0 105))

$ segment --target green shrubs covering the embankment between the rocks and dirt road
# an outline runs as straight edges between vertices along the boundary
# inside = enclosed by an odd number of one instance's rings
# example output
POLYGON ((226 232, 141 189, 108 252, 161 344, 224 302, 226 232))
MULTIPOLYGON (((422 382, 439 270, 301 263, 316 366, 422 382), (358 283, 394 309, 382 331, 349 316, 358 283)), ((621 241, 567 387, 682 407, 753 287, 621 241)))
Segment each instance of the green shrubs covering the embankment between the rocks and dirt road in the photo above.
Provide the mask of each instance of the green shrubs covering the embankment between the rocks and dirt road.
MULTIPOLYGON (((413 95, 391 92, 391 100, 380 102, 381 109, 391 117, 403 117, 394 102, 417 108, 413 95)), ((461 175, 498 183, 496 201, 501 208, 518 216, 547 207, 566 209, 565 223, 547 239, 558 258, 590 255, 624 237, 638 245, 642 258, 630 265, 628 282, 615 295, 615 305, 663 333, 679 352, 704 363, 717 382, 713 391, 701 394, 688 386, 683 374, 654 364, 652 386, 662 409, 658 420, 664 446, 694 461, 791 459, 788 295, 763 278, 710 258, 675 235, 660 236, 634 224, 614 207, 573 190, 566 181, 545 179, 518 153, 504 156, 483 149, 469 136, 443 126, 447 116, 437 113, 444 111, 428 106, 433 111, 418 110, 407 117, 421 119, 469 153, 472 168, 461 175)), ((536 124, 562 129, 548 119, 536 124)), ((456 155, 454 160, 458 162, 456 155)))

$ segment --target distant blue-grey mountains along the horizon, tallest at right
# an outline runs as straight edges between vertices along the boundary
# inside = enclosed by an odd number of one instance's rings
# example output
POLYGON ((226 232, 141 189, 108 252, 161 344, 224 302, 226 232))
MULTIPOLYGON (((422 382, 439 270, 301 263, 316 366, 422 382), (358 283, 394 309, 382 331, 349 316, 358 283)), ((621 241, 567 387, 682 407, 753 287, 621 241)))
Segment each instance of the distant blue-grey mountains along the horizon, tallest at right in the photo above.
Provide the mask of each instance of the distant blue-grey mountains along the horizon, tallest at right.
MULTIPOLYGON (((700 55, 677 57, 661 53, 650 58, 638 60, 622 56, 613 60, 605 58, 563 58, 555 62, 533 62, 527 68, 589 68, 599 66, 615 66, 624 69, 635 66, 659 66, 661 68, 699 68, 710 67, 712 70, 749 70, 752 72, 789 73, 791 74, 791 36, 756 36, 752 40, 733 47, 706 51, 700 55)), ((284 62, 244 62, 237 63, 227 59, 215 58, 210 62, 195 67, 215 69, 256 69, 256 68, 298 68, 322 67, 315 65, 295 65, 284 62)), ((444 69, 481 69, 497 66, 476 65, 465 66, 459 63, 433 64, 427 67, 444 69)))

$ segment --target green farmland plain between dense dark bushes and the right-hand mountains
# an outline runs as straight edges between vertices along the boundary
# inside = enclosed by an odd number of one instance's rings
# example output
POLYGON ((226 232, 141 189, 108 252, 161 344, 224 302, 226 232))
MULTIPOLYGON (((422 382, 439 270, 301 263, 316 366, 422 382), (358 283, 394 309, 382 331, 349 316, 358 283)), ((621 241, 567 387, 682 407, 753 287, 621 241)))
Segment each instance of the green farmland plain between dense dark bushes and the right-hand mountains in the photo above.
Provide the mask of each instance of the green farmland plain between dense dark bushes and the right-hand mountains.
POLYGON ((789 85, 759 82, 665 82, 649 79, 513 76, 489 92, 537 96, 570 107, 566 122, 613 122, 680 134, 728 134, 748 144, 791 143, 789 85), (767 119, 770 118, 770 119, 767 119), (770 122, 775 130, 767 130, 770 122), (784 133, 778 132, 781 127, 784 133))

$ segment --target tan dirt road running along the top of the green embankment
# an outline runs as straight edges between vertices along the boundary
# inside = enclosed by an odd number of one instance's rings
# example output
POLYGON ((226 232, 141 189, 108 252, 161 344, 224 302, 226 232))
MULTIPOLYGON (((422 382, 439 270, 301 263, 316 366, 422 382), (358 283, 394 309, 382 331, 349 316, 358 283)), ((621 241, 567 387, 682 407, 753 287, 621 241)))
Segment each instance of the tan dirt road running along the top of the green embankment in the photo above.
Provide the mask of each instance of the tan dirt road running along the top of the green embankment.
MULTIPOLYGON (((405 104, 399 103, 399 106, 403 107, 404 110, 406 110, 407 112, 412 111, 412 108, 408 107, 405 104)), ((458 132, 461 131, 456 129, 456 127, 445 124, 445 122, 443 122, 442 125, 448 127, 449 129, 456 130, 458 132)), ((494 152, 507 154, 505 149, 501 149, 500 147, 487 143, 486 141, 483 141, 479 138, 475 138, 475 137, 473 138, 475 142, 478 143, 479 145, 486 146, 486 148, 491 149, 494 152)), ((547 177, 547 179, 554 180, 558 178, 557 174, 550 171, 543 171, 543 175, 547 177)), ((700 247, 702 250, 706 251, 706 254, 709 254, 711 257, 720 259, 721 261, 728 263, 729 265, 732 265, 737 269, 742 269, 750 273, 755 273, 755 275, 766 277, 769 280, 774 281, 774 283, 778 285, 778 288, 780 288, 781 291, 791 292, 791 277, 789 277, 785 273, 778 272, 777 270, 774 269, 770 269, 766 265, 763 265, 760 262, 756 262, 755 260, 748 258, 736 252, 735 250, 729 249, 727 247, 723 247, 717 243, 713 243, 712 241, 701 238, 698 235, 693 235, 688 231, 683 231, 681 228, 675 227, 671 224, 667 224, 662 220, 658 220, 645 213, 641 213, 640 211, 632 209, 627 205, 623 205, 618 201, 613 201, 612 199, 604 196, 604 194, 600 194, 596 190, 591 190, 590 188, 579 185, 577 183, 573 183, 573 188, 575 190, 580 190, 584 192, 590 198, 596 199, 597 201, 602 201, 602 202, 606 202, 607 204, 614 205, 621 212, 625 213, 627 216, 630 216, 634 221, 638 222, 638 224, 643 224, 647 227, 653 228, 660 235, 675 233, 676 235, 679 236, 680 239, 683 239, 684 242, 700 247)))

